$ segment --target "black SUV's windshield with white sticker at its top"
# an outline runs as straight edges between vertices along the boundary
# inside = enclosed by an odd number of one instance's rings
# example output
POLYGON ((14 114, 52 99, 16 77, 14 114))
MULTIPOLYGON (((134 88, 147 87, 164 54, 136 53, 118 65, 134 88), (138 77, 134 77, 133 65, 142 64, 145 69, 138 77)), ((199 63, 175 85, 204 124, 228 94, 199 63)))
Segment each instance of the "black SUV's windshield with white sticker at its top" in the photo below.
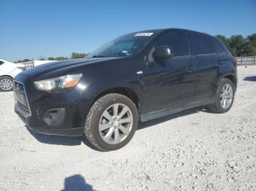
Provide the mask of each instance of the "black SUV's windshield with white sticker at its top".
POLYGON ((94 50, 86 58, 128 57, 136 55, 156 34, 156 31, 125 34, 94 50))

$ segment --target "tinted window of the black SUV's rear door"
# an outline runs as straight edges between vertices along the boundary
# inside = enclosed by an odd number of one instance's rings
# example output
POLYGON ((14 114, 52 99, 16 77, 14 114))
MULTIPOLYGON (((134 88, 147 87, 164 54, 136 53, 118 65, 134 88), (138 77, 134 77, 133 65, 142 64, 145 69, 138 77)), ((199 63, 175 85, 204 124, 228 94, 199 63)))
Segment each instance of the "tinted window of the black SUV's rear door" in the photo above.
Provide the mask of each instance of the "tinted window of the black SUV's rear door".
POLYGON ((211 37, 204 34, 192 34, 193 42, 197 55, 214 54, 216 49, 211 37))

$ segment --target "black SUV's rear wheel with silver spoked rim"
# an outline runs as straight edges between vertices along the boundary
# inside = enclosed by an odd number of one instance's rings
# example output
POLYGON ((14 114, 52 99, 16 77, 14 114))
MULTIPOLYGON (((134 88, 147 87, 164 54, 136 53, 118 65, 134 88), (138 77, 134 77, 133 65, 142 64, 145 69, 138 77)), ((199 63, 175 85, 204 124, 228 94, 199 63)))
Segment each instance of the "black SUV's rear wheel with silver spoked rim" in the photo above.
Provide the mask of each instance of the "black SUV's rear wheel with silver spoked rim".
POLYGON ((228 112, 233 105, 235 93, 236 89, 233 85, 233 82, 231 82, 230 79, 221 79, 217 87, 214 104, 211 104, 210 106, 211 111, 218 114, 228 112), (230 93, 226 95, 225 90, 229 91, 227 87, 231 88, 230 91, 232 91, 232 95, 230 95, 230 93), (232 99, 230 100, 229 98, 232 99))

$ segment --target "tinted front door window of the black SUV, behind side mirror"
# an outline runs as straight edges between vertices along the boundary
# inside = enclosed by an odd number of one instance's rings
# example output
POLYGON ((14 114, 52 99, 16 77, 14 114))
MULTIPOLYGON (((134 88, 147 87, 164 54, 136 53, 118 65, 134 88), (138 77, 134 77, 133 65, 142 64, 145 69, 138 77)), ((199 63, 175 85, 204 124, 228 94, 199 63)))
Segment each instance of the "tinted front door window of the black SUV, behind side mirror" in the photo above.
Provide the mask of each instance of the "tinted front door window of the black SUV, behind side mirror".
POLYGON ((181 31, 170 31, 157 40, 157 46, 169 46, 173 56, 189 55, 187 34, 181 31))

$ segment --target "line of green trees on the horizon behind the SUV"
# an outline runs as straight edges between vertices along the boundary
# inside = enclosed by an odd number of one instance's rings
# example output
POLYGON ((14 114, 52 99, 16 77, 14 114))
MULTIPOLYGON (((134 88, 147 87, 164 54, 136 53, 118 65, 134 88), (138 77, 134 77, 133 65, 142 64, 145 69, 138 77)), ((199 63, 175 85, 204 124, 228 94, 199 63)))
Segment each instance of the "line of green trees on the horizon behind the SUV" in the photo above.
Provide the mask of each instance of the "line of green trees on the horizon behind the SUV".
MULTIPOLYGON (((224 35, 218 34, 217 37, 225 43, 226 47, 233 56, 240 57, 240 56, 256 56, 256 34, 248 35, 246 37, 241 35, 233 35, 230 38, 227 38, 224 35)), ((76 59, 76 58, 85 58, 86 53, 78 53, 72 52, 70 58, 59 56, 56 58, 49 57, 47 59, 40 58, 40 61, 64 61, 69 59, 76 59)), ((15 63, 22 63, 22 62, 29 62, 32 61, 28 58, 17 61, 15 63)))

